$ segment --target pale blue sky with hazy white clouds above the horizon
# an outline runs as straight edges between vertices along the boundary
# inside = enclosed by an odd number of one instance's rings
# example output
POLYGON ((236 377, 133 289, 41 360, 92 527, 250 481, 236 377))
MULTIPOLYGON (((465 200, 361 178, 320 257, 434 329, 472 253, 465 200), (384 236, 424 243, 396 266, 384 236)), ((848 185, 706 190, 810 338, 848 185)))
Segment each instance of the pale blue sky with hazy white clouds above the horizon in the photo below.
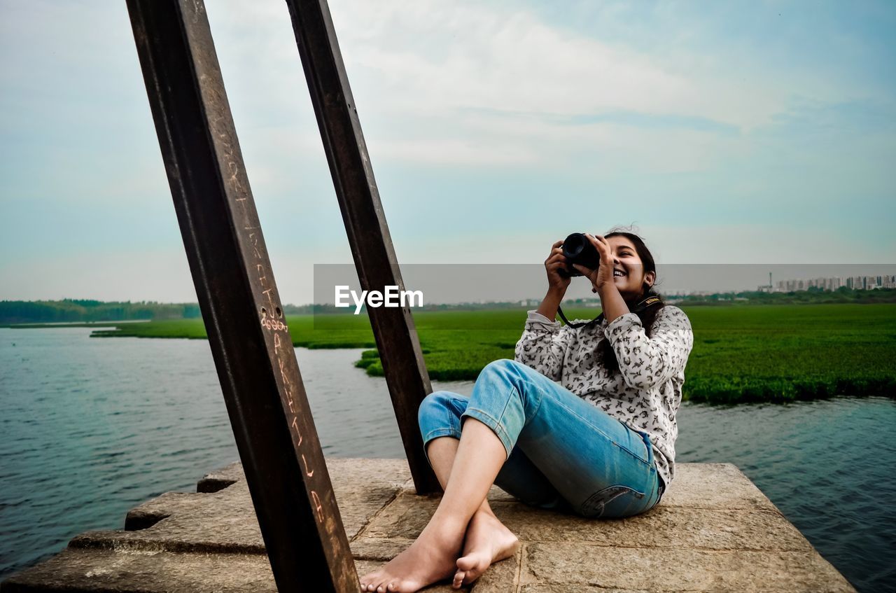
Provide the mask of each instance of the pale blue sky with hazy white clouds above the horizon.
MULTIPOLYGON (((206 8, 280 297, 310 302, 352 258, 286 4, 206 8)), ((896 262, 896 3, 330 9, 400 263, 618 225, 660 279, 896 262)), ((0 299, 194 302, 125 2, 0 14, 0 299)))

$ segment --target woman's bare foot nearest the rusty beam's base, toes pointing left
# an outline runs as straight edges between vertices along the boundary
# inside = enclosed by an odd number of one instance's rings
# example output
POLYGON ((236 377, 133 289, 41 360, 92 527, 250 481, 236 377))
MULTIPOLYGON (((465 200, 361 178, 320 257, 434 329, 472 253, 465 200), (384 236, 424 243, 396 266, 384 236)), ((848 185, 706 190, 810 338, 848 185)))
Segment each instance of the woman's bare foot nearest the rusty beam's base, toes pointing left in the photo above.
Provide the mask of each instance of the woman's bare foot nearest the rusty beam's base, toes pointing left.
POLYGON ((453 535, 446 534, 427 525, 408 549, 380 570, 361 577, 361 590, 414 593, 437 580, 451 578, 457 570, 455 558, 461 552, 463 543, 463 529, 452 531, 453 535))

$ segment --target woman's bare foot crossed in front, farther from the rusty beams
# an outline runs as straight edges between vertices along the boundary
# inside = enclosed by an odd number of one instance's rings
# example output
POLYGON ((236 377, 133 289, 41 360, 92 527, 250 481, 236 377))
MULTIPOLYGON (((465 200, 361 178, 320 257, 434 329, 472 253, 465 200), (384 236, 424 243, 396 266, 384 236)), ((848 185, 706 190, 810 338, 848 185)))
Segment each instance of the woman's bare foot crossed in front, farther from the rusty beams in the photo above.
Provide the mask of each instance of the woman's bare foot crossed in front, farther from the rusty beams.
POLYGON ((510 558, 520 547, 520 540, 494 515, 477 511, 467 528, 463 555, 457 559, 452 587, 461 589, 477 580, 496 562, 510 558))

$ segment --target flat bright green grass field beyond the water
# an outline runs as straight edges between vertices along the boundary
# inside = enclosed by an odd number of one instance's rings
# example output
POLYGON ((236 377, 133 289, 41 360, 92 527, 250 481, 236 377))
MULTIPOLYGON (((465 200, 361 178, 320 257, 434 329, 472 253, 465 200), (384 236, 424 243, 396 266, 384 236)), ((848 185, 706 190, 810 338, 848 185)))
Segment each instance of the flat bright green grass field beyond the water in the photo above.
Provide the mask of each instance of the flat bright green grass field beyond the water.
MULTIPOLYGON (((685 369, 685 399, 734 403, 835 395, 896 397, 896 304, 692 306, 694 350, 685 369)), ((566 311, 570 319, 595 310, 566 311)), ((414 314, 433 379, 475 379, 483 366, 513 358, 525 311, 414 314)), ((290 317, 296 346, 375 348, 363 315, 290 317)), ((200 320, 122 324, 94 335, 205 338, 200 320)), ((356 363, 382 375, 375 350, 356 363)))

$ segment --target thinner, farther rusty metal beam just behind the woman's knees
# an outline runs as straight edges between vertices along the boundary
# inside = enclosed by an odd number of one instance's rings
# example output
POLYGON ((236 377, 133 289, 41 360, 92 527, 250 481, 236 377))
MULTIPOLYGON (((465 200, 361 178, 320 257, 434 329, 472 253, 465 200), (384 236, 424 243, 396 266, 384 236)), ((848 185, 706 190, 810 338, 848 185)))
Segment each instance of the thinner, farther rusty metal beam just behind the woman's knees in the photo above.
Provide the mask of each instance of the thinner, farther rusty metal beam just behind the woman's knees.
MULTIPOLYGON (((326 0, 287 4, 361 288, 404 290, 330 9, 326 0)), ((442 492, 426 461, 417 422, 420 402, 433 388, 410 309, 368 307, 367 314, 414 486, 418 494, 442 492)))

